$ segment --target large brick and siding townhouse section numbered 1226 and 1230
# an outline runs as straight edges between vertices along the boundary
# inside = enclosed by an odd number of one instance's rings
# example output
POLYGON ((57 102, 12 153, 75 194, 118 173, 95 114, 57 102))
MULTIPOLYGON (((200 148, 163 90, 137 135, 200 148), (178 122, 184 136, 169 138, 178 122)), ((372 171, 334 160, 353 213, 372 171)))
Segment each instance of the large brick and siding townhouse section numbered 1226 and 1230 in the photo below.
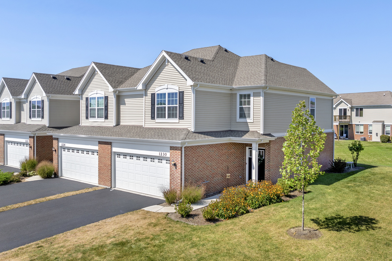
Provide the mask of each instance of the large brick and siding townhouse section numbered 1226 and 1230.
POLYGON ((207 193, 279 178, 283 136, 305 100, 333 159, 336 93, 307 69, 218 46, 162 51, 144 68, 93 62, 80 80, 79 124, 52 131, 58 176, 160 196, 203 184, 207 193))

